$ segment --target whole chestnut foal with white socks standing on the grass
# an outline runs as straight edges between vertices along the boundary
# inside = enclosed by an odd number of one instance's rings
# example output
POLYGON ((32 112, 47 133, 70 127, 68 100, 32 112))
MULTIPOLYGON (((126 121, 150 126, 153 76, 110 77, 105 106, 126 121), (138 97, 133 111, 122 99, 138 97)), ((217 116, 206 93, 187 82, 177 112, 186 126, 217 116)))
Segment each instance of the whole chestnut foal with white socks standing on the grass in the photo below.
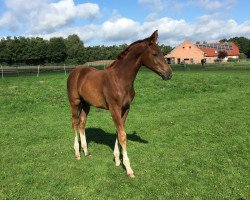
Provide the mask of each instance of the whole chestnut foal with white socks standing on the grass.
POLYGON ((70 73, 67 88, 72 110, 72 127, 75 133, 75 156, 78 160, 80 159, 78 128, 84 154, 90 155, 85 137, 85 124, 90 106, 107 109, 116 126, 115 164, 119 166, 121 163, 118 147, 120 144, 127 174, 129 177, 134 177, 127 155, 124 124, 130 103, 135 96, 134 80, 137 72, 141 65, 144 65, 159 74, 163 80, 172 77, 172 69, 166 63, 157 45, 157 38, 158 31, 155 31, 150 37, 132 43, 104 70, 78 67, 70 73))

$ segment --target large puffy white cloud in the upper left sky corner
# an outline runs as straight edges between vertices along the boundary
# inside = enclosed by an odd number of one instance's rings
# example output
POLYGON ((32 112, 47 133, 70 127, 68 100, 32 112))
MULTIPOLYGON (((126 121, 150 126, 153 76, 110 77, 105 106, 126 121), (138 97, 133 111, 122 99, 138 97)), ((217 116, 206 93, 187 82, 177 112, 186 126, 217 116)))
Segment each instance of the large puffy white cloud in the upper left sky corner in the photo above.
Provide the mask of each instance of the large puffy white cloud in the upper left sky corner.
POLYGON ((73 0, 56 3, 51 0, 5 0, 5 4, 9 14, 0 16, 0 27, 8 21, 8 24, 15 24, 16 29, 25 27, 30 33, 50 33, 78 18, 91 20, 100 15, 97 4, 75 4, 73 0))

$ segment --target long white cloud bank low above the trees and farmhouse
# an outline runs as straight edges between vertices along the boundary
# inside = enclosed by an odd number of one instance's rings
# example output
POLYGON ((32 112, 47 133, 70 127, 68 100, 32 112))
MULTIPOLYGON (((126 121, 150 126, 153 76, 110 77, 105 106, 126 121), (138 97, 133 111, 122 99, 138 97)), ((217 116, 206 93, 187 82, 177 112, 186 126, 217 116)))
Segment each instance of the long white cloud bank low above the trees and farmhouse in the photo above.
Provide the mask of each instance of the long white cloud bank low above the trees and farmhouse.
POLYGON ((193 23, 172 18, 160 18, 154 21, 139 23, 132 19, 119 18, 106 21, 100 25, 86 25, 70 27, 53 34, 40 35, 46 38, 78 34, 86 46, 114 45, 131 43, 138 39, 150 36, 153 31, 159 31, 159 42, 165 45, 176 46, 188 39, 196 41, 219 41, 223 38, 245 36, 250 38, 250 21, 238 24, 236 21, 218 20, 213 16, 203 16, 193 23))

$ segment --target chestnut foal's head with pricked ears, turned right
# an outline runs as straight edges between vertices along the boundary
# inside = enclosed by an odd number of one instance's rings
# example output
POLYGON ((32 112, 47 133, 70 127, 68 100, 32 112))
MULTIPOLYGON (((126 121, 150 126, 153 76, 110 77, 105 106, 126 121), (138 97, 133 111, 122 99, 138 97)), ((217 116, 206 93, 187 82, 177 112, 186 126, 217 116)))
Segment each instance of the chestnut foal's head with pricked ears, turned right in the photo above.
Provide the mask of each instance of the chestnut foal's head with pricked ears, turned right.
POLYGON ((164 56, 157 44, 158 31, 155 31, 147 42, 147 49, 142 54, 142 64, 147 68, 159 74, 163 80, 169 80, 172 77, 172 69, 164 59, 164 56))

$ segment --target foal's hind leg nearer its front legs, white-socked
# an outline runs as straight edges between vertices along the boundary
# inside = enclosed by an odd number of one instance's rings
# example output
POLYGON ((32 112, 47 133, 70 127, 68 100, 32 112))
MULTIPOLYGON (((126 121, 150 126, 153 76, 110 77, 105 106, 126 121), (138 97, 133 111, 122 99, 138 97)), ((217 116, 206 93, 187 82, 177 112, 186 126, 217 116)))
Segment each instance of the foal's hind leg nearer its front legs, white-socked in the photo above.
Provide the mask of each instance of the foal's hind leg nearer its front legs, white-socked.
POLYGON ((82 111, 79 119, 79 128, 80 128, 80 137, 81 137, 81 147, 84 151, 85 156, 89 156, 90 153, 88 151, 86 135, 85 135, 85 125, 87 120, 87 115, 89 113, 90 106, 88 104, 84 104, 82 106, 82 111))

